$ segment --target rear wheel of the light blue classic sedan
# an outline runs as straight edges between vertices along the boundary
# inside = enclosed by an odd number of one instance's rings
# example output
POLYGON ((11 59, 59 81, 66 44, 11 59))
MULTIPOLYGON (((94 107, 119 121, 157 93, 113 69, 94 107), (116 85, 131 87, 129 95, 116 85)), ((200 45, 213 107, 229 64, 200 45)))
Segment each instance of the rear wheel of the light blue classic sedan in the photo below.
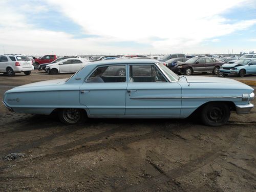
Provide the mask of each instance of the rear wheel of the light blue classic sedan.
POLYGON ((80 124, 86 122, 87 115, 82 109, 61 109, 58 112, 59 120, 65 124, 80 124))

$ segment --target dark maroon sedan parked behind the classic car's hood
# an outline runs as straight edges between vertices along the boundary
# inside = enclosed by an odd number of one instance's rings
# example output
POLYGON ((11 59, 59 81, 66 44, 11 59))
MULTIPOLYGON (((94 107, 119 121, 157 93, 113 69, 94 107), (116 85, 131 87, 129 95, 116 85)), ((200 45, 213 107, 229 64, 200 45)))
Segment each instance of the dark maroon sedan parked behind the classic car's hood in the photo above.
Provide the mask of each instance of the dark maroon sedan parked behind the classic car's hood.
POLYGON ((217 75, 220 67, 224 64, 223 61, 216 60, 210 57, 193 57, 186 62, 178 62, 172 71, 177 74, 192 75, 196 72, 207 73, 217 75))

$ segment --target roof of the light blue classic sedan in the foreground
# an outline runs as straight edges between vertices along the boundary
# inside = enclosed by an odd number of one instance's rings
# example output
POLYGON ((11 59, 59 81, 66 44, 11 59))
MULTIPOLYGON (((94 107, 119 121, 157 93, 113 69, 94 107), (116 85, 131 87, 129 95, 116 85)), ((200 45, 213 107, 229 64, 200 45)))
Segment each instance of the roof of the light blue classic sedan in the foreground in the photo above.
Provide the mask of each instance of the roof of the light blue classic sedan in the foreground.
POLYGON ((112 59, 112 60, 100 60, 100 61, 94 61, 94 62, 89 62, 87 65, 118 65, 118 64, 142 64, 142 63, 156 63, 159 62, 155 59, 112 59))

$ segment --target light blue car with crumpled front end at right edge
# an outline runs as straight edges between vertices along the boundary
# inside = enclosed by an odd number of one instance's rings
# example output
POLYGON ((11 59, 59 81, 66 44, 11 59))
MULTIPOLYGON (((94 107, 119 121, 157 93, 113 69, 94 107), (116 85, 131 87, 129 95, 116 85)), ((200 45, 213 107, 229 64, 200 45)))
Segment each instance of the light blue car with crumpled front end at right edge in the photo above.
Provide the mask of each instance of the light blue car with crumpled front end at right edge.
POLYGON ((239 59, 234 63, 226 63, 220 68, 224 76, 237 74, 244 77, 247 74, 256 74, 256 58, 239 59))

